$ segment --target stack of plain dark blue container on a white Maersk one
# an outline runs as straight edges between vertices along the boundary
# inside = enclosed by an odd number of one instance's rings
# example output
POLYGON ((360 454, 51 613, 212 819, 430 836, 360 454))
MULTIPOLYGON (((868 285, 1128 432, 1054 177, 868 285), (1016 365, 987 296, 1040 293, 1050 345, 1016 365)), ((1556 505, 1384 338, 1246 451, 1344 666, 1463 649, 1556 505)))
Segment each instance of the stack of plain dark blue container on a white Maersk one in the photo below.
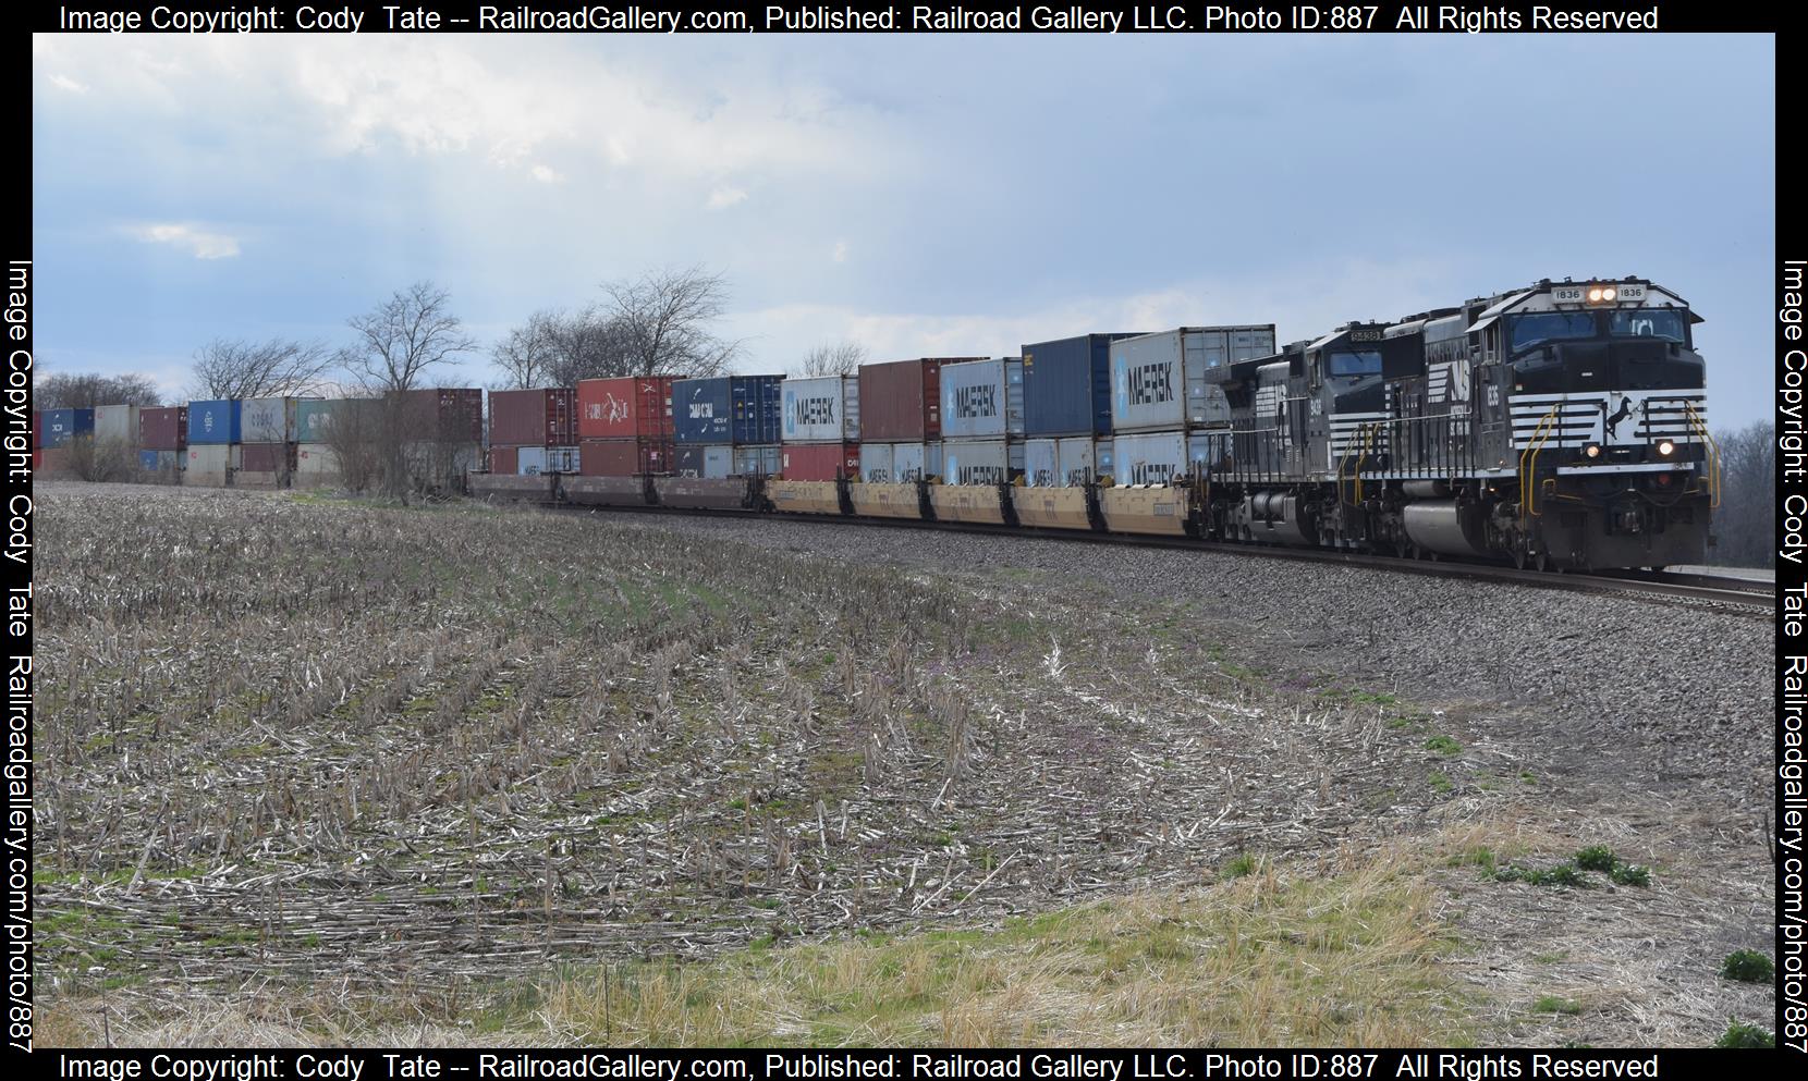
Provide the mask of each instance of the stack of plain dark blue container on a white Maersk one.
POLYGON ((1023 347, 1023 483, 1083 486, 1112 475, 1110 345, 1081 334, 1023 347))

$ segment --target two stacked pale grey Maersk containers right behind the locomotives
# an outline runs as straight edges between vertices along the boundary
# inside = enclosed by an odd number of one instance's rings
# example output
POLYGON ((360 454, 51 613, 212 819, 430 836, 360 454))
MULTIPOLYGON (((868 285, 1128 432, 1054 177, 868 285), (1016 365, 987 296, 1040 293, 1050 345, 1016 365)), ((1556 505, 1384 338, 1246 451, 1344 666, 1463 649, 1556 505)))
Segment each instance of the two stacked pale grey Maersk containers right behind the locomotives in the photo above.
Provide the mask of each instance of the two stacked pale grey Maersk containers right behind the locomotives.
POLYGON ((1211 430, 1231 425, 1213 372, 1275 352, 1275 325, 1179 327, 1110 343, 1119 484, 1168 484, 1204 465, 1211 430))

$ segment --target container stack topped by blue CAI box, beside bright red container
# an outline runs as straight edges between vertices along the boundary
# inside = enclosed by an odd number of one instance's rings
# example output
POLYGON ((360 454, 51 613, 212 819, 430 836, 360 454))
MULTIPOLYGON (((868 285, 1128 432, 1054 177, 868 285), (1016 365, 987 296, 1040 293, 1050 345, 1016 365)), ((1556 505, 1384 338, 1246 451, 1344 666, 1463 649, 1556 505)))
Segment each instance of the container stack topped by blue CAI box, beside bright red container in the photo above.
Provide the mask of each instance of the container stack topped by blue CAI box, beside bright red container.
POLYGON ((674 472, 723 479, 777 475, 783 376, 673 381, 674 472))

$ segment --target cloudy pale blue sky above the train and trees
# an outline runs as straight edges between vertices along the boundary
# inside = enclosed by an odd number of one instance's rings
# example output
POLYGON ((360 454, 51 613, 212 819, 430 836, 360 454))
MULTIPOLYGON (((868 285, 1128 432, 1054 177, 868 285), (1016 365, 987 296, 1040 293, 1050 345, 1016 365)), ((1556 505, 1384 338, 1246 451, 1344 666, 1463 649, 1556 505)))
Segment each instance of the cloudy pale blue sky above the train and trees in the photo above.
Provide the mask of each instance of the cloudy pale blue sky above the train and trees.
POLYGON ((418 278, 488 343, 703 264, 743 371, 1642 275, 1707 318, 1716 425, 1774 387, 1770 36, 38 36, 33 67, 47 371, 175 392, 210 338, 338 343, 418 278))

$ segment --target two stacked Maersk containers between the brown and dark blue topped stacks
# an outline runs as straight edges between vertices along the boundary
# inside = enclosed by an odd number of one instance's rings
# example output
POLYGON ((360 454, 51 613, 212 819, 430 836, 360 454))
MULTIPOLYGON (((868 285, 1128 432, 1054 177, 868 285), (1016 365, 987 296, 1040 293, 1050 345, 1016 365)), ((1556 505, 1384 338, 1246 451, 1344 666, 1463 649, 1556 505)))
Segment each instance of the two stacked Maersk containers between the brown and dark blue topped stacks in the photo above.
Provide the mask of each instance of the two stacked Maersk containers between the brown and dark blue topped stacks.
POLYGON ((942 479, 1009 484, 1023 474, 1023 362, 942 365, 942 479))

